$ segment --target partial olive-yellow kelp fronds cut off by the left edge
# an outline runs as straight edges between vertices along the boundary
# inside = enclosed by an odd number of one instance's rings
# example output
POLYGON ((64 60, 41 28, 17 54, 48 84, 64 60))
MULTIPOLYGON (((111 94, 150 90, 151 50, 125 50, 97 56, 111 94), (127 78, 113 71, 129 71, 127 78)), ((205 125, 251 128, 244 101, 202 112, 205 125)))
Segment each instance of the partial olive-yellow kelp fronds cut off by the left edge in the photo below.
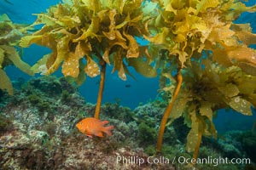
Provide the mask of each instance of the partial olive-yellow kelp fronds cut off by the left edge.
POLYGON ((7 14, 0 15, 0 88, 7 89, 9 94, 13 94, 14 90, 4 71, 6 66, 15 65, 20 71, 33 75, 30 65, 20 59, 20 54, 15 49, 20 37, 24 34, 26 31, 23 25, 14 24, 7 14))

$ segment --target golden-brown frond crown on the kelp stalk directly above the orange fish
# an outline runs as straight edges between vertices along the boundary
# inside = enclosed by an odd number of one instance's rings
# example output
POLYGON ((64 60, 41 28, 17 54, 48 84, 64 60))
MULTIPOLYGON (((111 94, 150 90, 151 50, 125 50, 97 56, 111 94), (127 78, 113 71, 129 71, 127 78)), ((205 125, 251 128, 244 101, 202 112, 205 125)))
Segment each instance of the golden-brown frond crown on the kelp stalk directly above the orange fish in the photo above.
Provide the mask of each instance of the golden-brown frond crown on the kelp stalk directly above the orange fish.
POLYGON ((49 75, 61 65, 65 77, 79 81, 80 74, 96 77, 100 74, 99 60, 113 65, 121 79, 126 80, 125 59, 138 72, 155 77, 156 72, 149 63, 142 62, 145 50, 136 37, 143 37, 141 0, 136 1, 70 1, 49 8, 46 14, 37 14, 33 26, 44 24, 32 36, 23 37, 20 46, 32 43, 51 48, 52 53, 44 56, 35 71, 49 75), (82 62, 81 62, 82 61, 82 62), (151 72, 140 71, 138 63, 151 72), (43 68, 43 71, 42 71, 43 68), (152 73, 154 72, 154 73, 152 73))

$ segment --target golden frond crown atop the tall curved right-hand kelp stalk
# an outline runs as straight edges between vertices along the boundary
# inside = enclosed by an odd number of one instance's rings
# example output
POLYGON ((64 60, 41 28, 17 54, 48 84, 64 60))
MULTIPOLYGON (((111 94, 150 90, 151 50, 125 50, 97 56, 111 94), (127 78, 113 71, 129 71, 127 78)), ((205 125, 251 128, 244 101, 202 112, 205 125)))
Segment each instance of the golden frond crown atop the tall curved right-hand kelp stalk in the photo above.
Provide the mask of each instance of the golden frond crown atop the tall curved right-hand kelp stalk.
MULTIPOLYGON (((202 50, 212 51, 212 59, 220 65, 237 65, 254 74, 256 54, 248 45, 256 35, 248 24, 233 21, 244 11, 255 12, 256 6, 246 7, 233 1, 160 1, 160 16, 151 24, 157 26, 150 42, 161 44, 171 55, 178 55, 183 67, 190 59, 201 56, 202 50), (250 69, 247 69, 250 67, 250 69)), ((255 74, 254 74, 255 75, 255 74)))

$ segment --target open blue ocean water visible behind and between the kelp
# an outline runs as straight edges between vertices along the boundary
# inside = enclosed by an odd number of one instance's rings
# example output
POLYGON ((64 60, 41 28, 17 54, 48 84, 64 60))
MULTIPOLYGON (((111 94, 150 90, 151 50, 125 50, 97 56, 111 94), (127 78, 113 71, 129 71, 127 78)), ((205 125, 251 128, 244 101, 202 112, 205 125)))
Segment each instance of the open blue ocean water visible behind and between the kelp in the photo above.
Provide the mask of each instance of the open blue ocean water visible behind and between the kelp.
MULTIPOLYGON (((32 14, 46 12, 49 6, 60 2, 60 0, 0 0, 0 14, 8 14, 9 18, 15 23, 32 24, 32 22, 36 20, 36 16, 32 14)), ((246 4, 247 6, 254 5, 256 4, 256 0, 250 0, 246 2, 246 4)), ((256 33, 255 18, 255 13, 244 13, 236 22, 250 23, 253 27, 253 32, 256 33)), ((253 46, 253 48, 256 47, 253 46)), ((49 52, 48 48, 32 45, 30 48, 24 49, 23 60, 33 65, 44 54, 48 54, 49 52)), ((12 66, 9 66, 6 71, 12 80, 16 80, 19 77, 24 77, 25 79, 30 78, 12 66)), ((137 80, 128 77, 128 80, 124 82, 119 79, 116 72, 111 75, 111 71, 112 68, 108 66, 103 103, 113 103, 116 102, 117 99, 120 99, 120 105, 129 106, 133 109, 139 103, 147 103, 150 99, 154 99, 157 96, 157 90, 159 89, 158 78, 145 78, 131 68, 130 71, 137 77, 137 80)), ((61 77, 61 71, 57 71, 55 75, 61 77)), ((99 77, 87 77, 84 84, 79 88, 80 93, 84 96, 86 101, 96 103, 98 82, 99 77)), ((256 119, 256 111, 254 110, 253 112, 253 116, 242 116, 235 111, 218 111, 218 117, 214 122, 219 132, 224 132, 229 128, 249 129, 253 126, 253 122, 256 119)))

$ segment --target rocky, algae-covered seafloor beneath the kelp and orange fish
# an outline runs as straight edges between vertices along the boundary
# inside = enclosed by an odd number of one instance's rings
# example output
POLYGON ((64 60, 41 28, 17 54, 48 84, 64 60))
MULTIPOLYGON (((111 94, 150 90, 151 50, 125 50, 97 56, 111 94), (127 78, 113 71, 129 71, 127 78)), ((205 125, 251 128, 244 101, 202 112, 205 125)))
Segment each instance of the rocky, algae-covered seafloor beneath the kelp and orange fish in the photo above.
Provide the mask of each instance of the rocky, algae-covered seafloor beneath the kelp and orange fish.
MULTIPOLYGON (((15 95, 0 91, 0 169, 193 169, 179 163, 191 158, 185 150, 189 128, 179 119, 166 128, 161 154, 155 143, 160 100, 135 110, 116 103, 102 105, 101 119, 113 125, 113 135, 90 139, 75 124, 93 116, 95 105, 64 78, 38 77, 14 82, 15 95), (143 163, 141 163, 144 161, 143 163)), ((230 131, 220 139, 204 138, 199 157, 249 157, 250 164, 198 164, 196 169, 256 169, 256 134, 230 131)))

